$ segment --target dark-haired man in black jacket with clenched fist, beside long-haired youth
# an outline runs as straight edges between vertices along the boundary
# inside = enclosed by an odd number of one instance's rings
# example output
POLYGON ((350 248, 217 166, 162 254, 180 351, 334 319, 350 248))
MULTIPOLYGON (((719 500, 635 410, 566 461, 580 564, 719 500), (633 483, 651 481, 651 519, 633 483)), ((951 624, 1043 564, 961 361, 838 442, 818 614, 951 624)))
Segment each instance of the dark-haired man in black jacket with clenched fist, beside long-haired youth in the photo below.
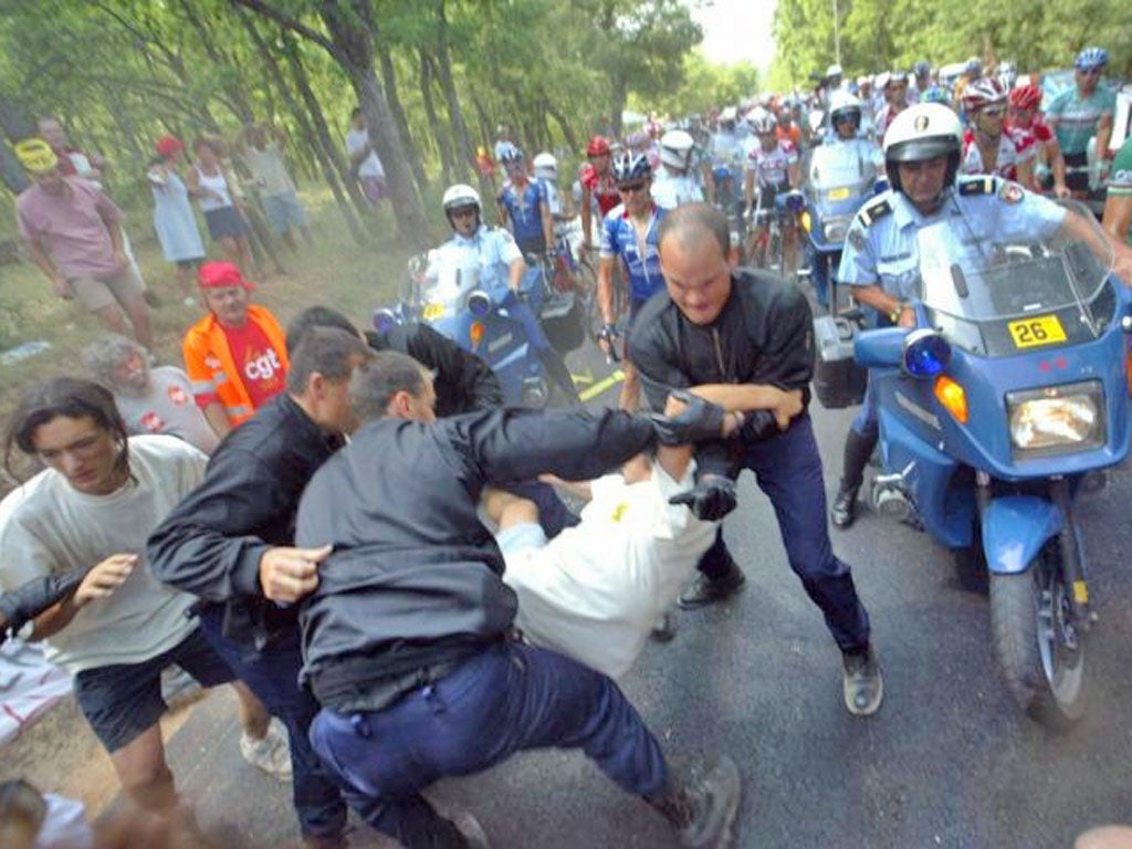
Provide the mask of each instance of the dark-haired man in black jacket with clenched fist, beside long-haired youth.
POLYGON ((357 335, 306 334, 291 352, 285 393, 221 443, 201 483, 154 531, 149 568, 200 598, 213 646, 282 720, 291 744, 293 799, 310 846, 344 844, 345 803, 310 747, 318 704, 299 687, 295 601, 317 583, 329 548, 294 548, 299 496, 353 426, 346 389, 370 355, 357 335))

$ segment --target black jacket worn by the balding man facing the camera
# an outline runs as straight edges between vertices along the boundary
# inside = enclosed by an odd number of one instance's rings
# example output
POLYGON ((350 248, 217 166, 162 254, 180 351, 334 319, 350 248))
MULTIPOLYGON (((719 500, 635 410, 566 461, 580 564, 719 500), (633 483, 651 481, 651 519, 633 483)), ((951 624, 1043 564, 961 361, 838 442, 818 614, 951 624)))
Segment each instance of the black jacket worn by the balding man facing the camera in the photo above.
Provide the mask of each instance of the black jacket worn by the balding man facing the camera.
MULTIPOLYGON (((661 292, 633 321, 629 359, 641 375, 649 403, 664 409, 670 389, 702 384, 760 384, 801 389, 809 402, 814 374, 814 331, 809 302, 801 291, 766 272, 738 268, 731 295, 709 325, 692 324, 661 292)), ((777 434, 769 413, 748 417, 743 439, 777 434)), ((701 472, 735 472, 727 443, 701 444, 701 472)))

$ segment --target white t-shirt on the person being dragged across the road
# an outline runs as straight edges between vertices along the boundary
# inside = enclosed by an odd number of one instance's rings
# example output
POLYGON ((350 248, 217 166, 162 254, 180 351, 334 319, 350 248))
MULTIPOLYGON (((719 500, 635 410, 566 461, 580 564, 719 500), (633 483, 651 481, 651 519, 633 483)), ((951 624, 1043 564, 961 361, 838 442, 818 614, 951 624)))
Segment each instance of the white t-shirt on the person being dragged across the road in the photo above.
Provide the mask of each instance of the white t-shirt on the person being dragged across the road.
POLYGON ((515 624, 531 642, 611 678, 629 670, 715 539, 717 523, 668 503, 693 486, 694 465, 679 482, 655 463, 640 483, 599 478, 578 525, 542 548, 504 555, 504 581, 518 597, 515 624))

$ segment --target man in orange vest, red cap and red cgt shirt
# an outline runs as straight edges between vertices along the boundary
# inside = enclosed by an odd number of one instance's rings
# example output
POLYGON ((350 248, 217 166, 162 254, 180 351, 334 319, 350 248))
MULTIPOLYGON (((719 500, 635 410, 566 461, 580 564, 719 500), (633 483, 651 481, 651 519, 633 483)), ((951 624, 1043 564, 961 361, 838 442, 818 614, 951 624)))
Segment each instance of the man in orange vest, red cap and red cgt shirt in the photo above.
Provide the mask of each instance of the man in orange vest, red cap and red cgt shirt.
POLYGON ((232 263, 205 263, 197 274, 208 315, 185 334, 185 370, 205 418, 223 439, 286 384, 283 329, 232 263))

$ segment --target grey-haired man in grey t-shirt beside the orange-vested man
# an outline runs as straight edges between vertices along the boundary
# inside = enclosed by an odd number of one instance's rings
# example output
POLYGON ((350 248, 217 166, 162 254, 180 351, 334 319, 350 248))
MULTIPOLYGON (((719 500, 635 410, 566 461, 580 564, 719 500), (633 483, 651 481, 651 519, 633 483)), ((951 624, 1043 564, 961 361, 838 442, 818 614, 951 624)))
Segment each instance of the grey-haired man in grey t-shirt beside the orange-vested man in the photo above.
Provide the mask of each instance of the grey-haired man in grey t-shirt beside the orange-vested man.
POLYGON ((145 351, 126 336, 110 334, 83 352, 91 376, 114 394, 131 436, 165 434, 205 454, 220 441, 192 401, 189 376, 174 366, 151 369, 145 351))

